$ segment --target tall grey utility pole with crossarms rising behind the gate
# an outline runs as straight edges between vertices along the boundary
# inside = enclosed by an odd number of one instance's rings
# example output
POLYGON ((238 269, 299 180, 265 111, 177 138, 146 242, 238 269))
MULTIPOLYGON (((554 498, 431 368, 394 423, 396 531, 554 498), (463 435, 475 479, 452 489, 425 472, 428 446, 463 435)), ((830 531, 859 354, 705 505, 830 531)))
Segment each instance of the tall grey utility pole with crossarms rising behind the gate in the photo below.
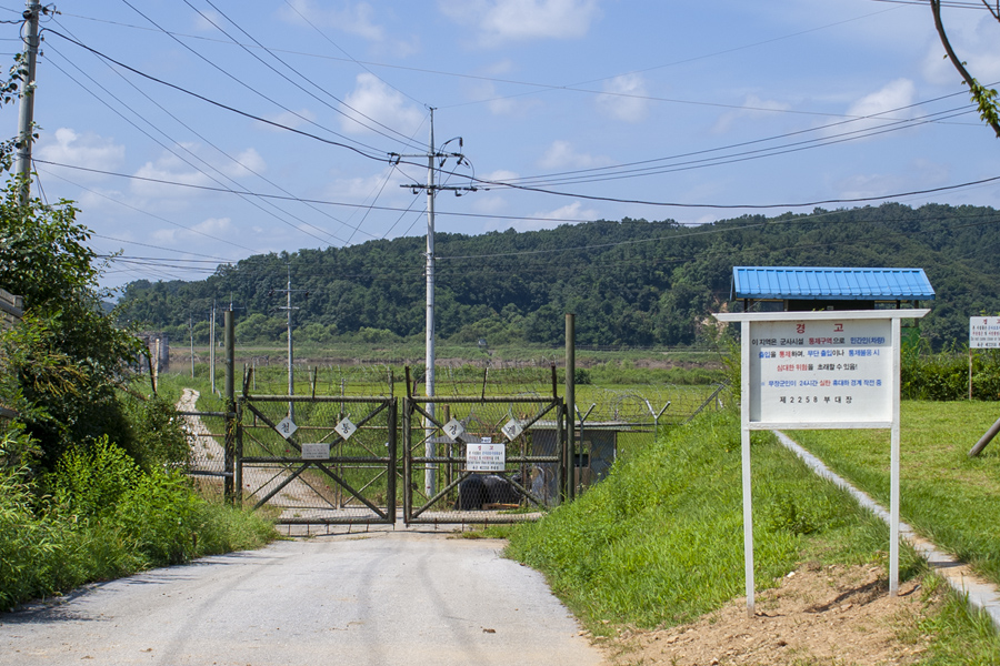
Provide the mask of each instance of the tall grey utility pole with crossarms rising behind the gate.
MULTIPOLYGON (((461 137, 457 138, 459 142, 459 149, 462 148, 462 139, 461 137)), ((450 139, 444 142, 441 148, 443 149, 446 145, 456 141, 456 139, 450 139)), ((427 370, 424 372, 424 393, 428 397, 434 396, 434 196, 437 195, 439 190, 450 190, 456 193, 456 196, 461 196, 461 192, 474 192, 476 188, 469 186, 456 186, 456 185, 438 185, 434 184, 434 160, 441 160, 440 167, 444 165, 444 162, 448 158, 457 158, 458 163, 461 164, 464 161, 466 155, 462 153, 449 153, 443 151, 434 150, 434 110, 431 108, 430 110, 430 144, 426 154, 411 154, 403 155, 392 153, 392 157, 397 158, 427 158, 427 184, 421 185, 419 183, 410 184, 410 185, 400 185, 401 188, 410 188, 413 190, 413 193, 417 193, 418 190, 427 190, 427 370)), ((439 168, 440 168, 439 167, 439 168)), ((430 416, 434 415, 434 403, 430 402, 427 404, 427 413, 430 416)), ((424 454, 427 457, 434 456, 434 426, 428 421, 424 423, 424 454)), ((428 497, 433 497, 436 490, 436 478, 434 472, 437 470, 437 465, 433 463, 428 463, 427 468, 423 475, 423 491, 428 497)))

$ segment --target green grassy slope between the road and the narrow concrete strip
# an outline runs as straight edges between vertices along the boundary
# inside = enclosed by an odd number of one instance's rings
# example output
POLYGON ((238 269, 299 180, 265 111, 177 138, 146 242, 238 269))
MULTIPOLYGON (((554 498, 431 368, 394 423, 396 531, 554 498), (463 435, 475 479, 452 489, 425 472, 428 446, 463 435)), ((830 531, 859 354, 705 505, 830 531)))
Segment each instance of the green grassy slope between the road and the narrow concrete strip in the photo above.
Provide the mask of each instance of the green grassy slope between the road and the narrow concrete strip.
MULTIPOLYGON (((861 563, 888 547, 880 521, 770 434, 754 433, 752 451, 759 586, 803 556, 861 563)), ((634 452, 576 503, 513 529, 508 552, 591 624, 682 623, 743 592, 740 478, 738 414, 706 414, 634 452)), ((902 568, 918 569, 911 553, 902 568)))

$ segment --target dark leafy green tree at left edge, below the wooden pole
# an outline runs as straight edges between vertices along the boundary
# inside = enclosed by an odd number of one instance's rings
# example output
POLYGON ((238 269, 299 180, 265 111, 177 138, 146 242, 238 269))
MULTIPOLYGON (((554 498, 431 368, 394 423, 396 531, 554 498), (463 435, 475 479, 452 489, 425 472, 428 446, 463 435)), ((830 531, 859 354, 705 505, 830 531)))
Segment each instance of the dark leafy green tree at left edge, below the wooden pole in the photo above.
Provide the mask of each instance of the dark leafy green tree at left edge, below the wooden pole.
POLYGON ((116 395, 140 343, 101 310, 100 266, 90 232, 68 201, 20 203, 17 179, 0 201, 0 286, 23 295, 26 316, 3 340, 6 398, 51 468, 77 443, 109 435, 134 450, 116 395))

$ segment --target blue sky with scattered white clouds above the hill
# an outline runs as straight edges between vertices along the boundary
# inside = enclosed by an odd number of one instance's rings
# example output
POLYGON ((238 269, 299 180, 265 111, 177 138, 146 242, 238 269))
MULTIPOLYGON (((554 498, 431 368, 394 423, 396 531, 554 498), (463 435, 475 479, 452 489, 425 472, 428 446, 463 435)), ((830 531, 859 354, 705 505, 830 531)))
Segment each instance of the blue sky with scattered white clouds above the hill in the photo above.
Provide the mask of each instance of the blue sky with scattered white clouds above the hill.
MULTIPOLYGON (((0 0, 0 19, 22 9, 0 0)), ((426 159, 390 155, 427 151, 430 108, 438 145, 462 138, 446 150, 466 160, 447 160, 443 182, 477 188, 439 194, 439 231, 622 216, 702 224, 881 196, 1000 208, 997 182, 893 196, 1000 175, 1000 140, 942 59, 926 3, 57 9, 42 23, 36 193, 74 200, 93 246, 121 252, 110 286, 201 279, 257 253, 422 235, 426 196, 401 185, 426 182, 426 159), (740 208, 751 205, 766 208, 740 208)), ((1000 80, 1000 23, 974 9, 944 17, 979 80, 1000 80)), ((2 29, 10 57, 19 27, 2 29)), ((0 113, 13 135, 17 107, 0 113)), ((852 205, 862 204, 823 208, 852 205)))

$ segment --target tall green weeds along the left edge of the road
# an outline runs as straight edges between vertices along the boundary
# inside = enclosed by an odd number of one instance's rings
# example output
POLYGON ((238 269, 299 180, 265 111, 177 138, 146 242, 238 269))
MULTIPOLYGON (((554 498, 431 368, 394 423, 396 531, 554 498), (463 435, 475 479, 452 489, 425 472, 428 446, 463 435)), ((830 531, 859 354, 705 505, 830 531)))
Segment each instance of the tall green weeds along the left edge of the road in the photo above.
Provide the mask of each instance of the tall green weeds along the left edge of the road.
POLYGON ((182 475, 101 441, 43 480, 0 472, 0 610, 153 566, 263 545, 262 517, 212 504, 182 475))

